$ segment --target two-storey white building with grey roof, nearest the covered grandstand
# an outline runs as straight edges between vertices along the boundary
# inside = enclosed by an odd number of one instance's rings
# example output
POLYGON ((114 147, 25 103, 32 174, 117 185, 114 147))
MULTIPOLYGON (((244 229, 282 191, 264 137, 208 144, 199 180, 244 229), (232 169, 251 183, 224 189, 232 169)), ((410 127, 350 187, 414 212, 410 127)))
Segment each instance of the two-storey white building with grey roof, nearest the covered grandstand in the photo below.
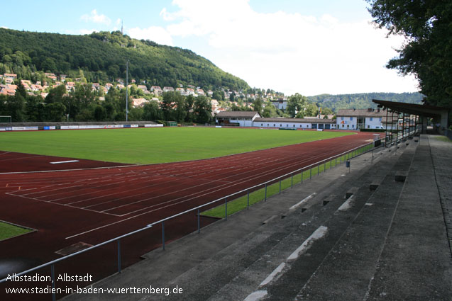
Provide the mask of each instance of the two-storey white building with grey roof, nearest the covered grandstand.
POLYGON ((338 110, 336 126, 338 130, 358 130, 382 128, 383 119, 386 119, 386 111, 380 109, 347 109, 338 110))

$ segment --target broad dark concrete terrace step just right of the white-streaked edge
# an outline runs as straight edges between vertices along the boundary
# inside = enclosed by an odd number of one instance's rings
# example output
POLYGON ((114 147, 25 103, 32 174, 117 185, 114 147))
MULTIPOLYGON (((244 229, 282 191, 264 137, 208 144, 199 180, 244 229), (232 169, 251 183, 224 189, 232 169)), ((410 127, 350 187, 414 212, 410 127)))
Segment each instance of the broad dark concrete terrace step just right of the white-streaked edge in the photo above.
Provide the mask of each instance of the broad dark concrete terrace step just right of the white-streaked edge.
MULTIPOLYGON (((410 158, 412 153, 404 152, 399 161, 410 158)), ((399 168, 395 164, 375 193, 364 200, 365 205, 341 239, 299 290, 297 300, 313 300, 314 296, 315 300, 363 300, 402 191, 403 183, 394 181, 399 168)))

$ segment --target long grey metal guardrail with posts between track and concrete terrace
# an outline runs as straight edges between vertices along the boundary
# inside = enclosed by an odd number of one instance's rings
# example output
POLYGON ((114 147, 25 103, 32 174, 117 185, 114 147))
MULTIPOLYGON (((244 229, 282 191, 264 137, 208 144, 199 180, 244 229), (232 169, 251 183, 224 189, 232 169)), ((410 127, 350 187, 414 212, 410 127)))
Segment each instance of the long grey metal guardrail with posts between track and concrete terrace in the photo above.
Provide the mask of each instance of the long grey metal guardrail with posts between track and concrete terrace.
MULTIPOLYGON (((415 131, 414 131, 415 132, 415 131)), ((403 139, 404 136, 402 136, 403 139)), ((386 138, 386 137, 385 137, 386 138)), ((385 143, 385 138, 381 138, 380 142, 382 147, 385 147, 385 144, 387 144, 387 142, 385 143)), ((375 140, 375 141, 379 141, 379 140, 375 140)), ((227 205, 228 205, 228 200, 231 200, 235 197, 241 196, 241 195, 247 195, 248 198, 248 204, 247 204, 247 208, 249 208, 249 196, 250 196, 250 192, 256 191, 259 188, 264 188, 265 189, 265 198, 264 200, 267 200, 268 195, 267 195, 267 190, 268 190, 268 186, 269 184, 272 183, 278 183, 279 182, 279 193, 281 193, 281 181, 284 178, 291 178, 291 187, 293 186, 293 178, 294 175, 297 174, 302 174, 302 178, 301 178, 301 183, 303 182, 303 173, 309 171, 309 179, 311 179, 313 176, 316 176, 318 174, 321 173, 321 171, 323 170, 323 172, 325 172, 327 170, 327 164, 329 165, 329 169, 332 169, 333 167, 333 161, 334 161, 334 166, 338 166, 340 164, 342 164, 343 162, 349 161, 350 159, 353 159, 355 157, 360 156, 361 154, 365 154, 367 152, 373 152, 373 150, 377 147, 375 147, 375 141, 368 143, 368 144, 363 144, 359 147, 355 147, 354 149, 349 149, 347 152, 343 152, 341 154, 335 155, 333 157, 329 157, 327 159, 321 160, 319 162, 316 162, 314 164, 310 164, 309 166, 304 166, 301 169, 297 169, 295 171, 291 171, 290 173, 284 174, 282 176, 278 176, 277 178, 273 178, 270 181, 265 181, 263 183, 260 183, 258 185, 255 186, 251 186, 248 187, 246 189, 243 189, 241 191, 237 191, 236 193, 231 193, 230 195, 226 195, 224 197, 221 198, 217 198, 216 200, 212 200, 209 203, 203 204, 203 205, 199 205, 197 207, 191 208, 189 210, 185 210, 184 212, 180 212, 177 213, 176 215, 172 215, 170 217, 166 217, 162 220, 158 220, 157 222, 152 222, 149 225, 147 225, 146 227, 137 229, 133 232, 129 232, 127 234, 123 234, 121 236, 115 237, 113 239, 109 239, 106 242, 102 242, 100 244, 96 244, 94 246, 90 246, 87 249, 83 249, 81 251, 77 251, 75 253, 72 253, 70 255, 61 257, 60 259, 55 259, 53 261, 49 261, 48 263, 43 263, 40 266, 36 266, 35 268, 31 268, 28 269, 26 271, 23 271, 21 273, 15 273, 15 276, 23 276, 26 275, 28 273, 31 273, 33 271, 37 271, 41 268, 45 268, 50 266, 50 273, 51 273, 51 280, 52 280, 52 300, 55 300, 56 298, 56 294, 55 294, 55 263, 59 263, 61 261, 65 261, 67 259, 70 259, 74 256, 77 256, 79 254, 83 254, 86 253, 87 251, 91 251, 93 249, 97 249, 100 246, 105 246, 106 244, 110 244, 110 243, 114 243, 116 242, 117 245, 117 263, 118 263, 118 271, 117 273, 121 273, 121 239, 124 239, 126 237, 131 237, 134 234, 137 234, 139 232, 143 232, 146 229, 150 229, 155 225, 161 225, 162 226, 162 249, 165 249, 165 222, 167 222, 168 220, 172 220, 175 219, 176 217, 180 217, 181 215, 187 214, 189 212, 197 212, 197 232, 199 233, 201 231, 201 227, 200 227, 200 210, 202 208, 208 208, 210 205, 213 205, 215 203, 219 203, 220 201, 224 200, 224 205, 225 205, 225 215, 224 215, 224 220, 227 220, 228 218, 228 211, 227 211, 227 205), (339 161, 339 163, 338 163, 339 161), (314 172, 313 172, 314 171, 314 172)), ((398 137, 397 137, 397 142, 398 142, 398 137)), ((372 155, 372 163, 373 163, 373 155, 372 155)), ((6 282, 6 280, 8 280, 8 278, 4 278, 0 280, 0 283, 4 283, 6 282)))

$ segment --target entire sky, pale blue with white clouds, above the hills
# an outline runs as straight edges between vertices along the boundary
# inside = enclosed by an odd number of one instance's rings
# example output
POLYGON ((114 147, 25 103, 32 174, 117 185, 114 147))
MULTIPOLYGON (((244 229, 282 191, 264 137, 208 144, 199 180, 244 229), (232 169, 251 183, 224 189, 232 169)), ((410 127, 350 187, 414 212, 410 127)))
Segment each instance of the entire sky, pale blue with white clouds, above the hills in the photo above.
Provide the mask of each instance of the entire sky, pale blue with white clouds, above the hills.
POLYGON ((192 50, 252 87, 300 93, 414 92, 385 68, 401 36, 371 23, 365 0, 4 1, 0 27, 131 38, 192 50), (17 10, 20 9, 20 12, 17 10))

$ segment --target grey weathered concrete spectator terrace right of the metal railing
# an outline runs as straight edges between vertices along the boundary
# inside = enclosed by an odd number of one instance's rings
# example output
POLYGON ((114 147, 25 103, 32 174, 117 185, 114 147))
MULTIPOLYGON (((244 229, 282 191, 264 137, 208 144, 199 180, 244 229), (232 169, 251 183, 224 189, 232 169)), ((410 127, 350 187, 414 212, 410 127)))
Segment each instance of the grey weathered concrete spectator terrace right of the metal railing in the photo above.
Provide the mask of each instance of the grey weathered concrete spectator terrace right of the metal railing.
POLYGON ((94 285, 169 294, 65 300, 452 300, 447 143, 423 136, 364 154, 350 173, 326 171, 94 285))

